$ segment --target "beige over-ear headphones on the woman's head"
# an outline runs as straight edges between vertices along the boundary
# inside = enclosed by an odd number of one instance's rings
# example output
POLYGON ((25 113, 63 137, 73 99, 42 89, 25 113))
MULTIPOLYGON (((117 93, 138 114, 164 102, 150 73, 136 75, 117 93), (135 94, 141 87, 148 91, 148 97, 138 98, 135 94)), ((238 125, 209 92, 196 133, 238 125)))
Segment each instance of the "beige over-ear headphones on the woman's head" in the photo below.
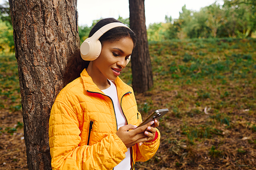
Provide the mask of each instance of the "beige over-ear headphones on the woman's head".
MULTIPOLYGON (((97 59, 101 52, 101 43, 99 41, 99 38, 107 31, 115 28, 115 27, 125 27, 127 29, 130 29, 126 25, 120 22, 112 22, 109 23, 103 27, 101 27, 96 33, 94 33, 91 37, 87 38, 83 41, 80 47, 80 53, 83 60, 86 61, 93 61, 97 59)), ((131 30, 131 29, 130 29, 131 30)), ((130 61, 127 60, 128 62, 130 61)), ((127 63, 128 63, 127 62, 127 63)))

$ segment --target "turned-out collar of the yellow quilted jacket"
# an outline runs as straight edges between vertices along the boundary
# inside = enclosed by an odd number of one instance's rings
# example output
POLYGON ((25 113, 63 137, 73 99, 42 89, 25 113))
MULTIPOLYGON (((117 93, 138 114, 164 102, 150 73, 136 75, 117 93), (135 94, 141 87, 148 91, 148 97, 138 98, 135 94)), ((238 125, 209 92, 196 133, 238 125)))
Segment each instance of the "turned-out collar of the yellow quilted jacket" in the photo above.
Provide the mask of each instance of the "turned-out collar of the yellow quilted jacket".
MULTIPOLYGON (((93 82, 92 78, 88 75, 88 72, 87 72, 86 69, 83 69, 80 76, 82 78, 82 82, 83 82, 83 86, 84 86, 85 90, 89 90, 89 91, 104 94, 98 88, 98 86, 93 82)), ((123 94, 131 91, 129 86, 127 84, 125 84, 119 77, 117 77, 117 79, 115 80, 115 84, 116 84, 116 87, 117 87, 118 96, 123 95, 123 94)))

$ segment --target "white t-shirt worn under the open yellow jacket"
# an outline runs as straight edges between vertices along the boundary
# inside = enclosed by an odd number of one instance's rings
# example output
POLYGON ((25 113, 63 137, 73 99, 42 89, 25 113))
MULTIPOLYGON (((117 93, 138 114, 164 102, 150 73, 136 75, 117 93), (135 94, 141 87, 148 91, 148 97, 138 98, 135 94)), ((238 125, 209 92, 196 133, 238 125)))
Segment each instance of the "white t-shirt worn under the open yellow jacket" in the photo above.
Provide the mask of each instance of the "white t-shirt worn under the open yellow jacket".
MULTIPOLYGON (((116 85, 110 81, 110 87, 104 90, 101 90, 103 93, 105 93, 106 95, 110 96, 110 98, 113 101, 114 104, 114 109, 115 109, 115 113, 116 113, 116 120, 117 120, 117 129, 119 129, 120 127, 127 125, 126 119, 123 115, 119 100, 118 100, 118 96, 117 96, 117 89, 116 89, 116 85)), ((115 170, 130 170, 131 169, 131 152, 130 152, 130 148, 127 149, 128 151, 125 152, 125 158, 114 167, 115 170)))

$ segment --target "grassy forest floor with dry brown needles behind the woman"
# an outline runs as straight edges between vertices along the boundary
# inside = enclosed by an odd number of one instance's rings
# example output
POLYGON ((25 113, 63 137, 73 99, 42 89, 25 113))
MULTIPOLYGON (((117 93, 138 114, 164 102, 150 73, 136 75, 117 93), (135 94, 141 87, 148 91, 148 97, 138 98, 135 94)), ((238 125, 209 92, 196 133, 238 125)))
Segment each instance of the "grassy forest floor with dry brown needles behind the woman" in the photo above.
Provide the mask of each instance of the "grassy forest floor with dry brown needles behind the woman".
MULTIPOLYGON (((256 39, 150 42, 154 87, 136 94, 160 120, 145 169, 256 169, 256 39)), ((131 84, 131 66, 120 76, 131 84)), ((0 169, 28 169, 15 57, 0 57, 0 169)))

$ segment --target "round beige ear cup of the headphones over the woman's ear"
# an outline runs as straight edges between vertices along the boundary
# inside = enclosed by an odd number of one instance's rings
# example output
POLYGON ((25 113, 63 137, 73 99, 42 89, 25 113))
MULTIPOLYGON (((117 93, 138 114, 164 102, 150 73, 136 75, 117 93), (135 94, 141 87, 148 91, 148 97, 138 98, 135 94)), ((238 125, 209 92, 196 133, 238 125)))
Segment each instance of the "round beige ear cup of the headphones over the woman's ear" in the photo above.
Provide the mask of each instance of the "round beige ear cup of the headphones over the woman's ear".
POLYGON ((87 38, 80 47, 80 53, 83 60, 93 61, 97 59, 101 52, 101 43, 99 40, 87 38))

